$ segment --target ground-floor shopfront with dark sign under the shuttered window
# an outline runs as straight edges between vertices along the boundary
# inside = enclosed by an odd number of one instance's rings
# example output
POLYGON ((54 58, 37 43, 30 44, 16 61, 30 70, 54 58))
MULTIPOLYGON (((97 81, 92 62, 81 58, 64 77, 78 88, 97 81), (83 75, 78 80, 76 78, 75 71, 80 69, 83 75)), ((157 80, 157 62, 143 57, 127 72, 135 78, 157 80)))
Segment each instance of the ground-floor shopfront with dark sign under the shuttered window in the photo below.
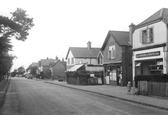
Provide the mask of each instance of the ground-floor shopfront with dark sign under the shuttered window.
POLYGON ((145 49, 133 52, 133 76, 166 74, 164 48, 145 49))

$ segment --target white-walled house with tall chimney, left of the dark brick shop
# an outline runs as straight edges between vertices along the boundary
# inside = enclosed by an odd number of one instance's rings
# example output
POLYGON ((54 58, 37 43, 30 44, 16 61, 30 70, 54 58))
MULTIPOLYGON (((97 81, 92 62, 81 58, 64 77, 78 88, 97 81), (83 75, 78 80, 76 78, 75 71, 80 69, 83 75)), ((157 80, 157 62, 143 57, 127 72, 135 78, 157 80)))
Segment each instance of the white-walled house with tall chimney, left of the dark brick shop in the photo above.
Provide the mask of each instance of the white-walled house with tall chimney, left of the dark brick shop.
POLYGON ((87 47, 70 47, 67 52, 67 71, 78 64, 97 65, 97 55, 100 48, 92 48, 91 42, 87 47))

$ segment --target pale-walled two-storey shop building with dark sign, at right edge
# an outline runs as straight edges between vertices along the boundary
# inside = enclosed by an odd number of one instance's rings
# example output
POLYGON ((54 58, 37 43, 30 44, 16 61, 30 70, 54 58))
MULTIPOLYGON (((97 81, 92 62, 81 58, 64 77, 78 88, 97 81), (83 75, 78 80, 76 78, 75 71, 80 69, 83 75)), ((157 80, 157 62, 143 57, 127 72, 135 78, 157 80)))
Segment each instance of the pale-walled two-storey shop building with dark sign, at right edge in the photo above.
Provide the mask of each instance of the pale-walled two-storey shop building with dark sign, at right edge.
MULTIPOLYGON (((132 26, 133 78, 168 73, 168 9, 132 26)), ((134 79, 133 79, 134 80, 134 79)))

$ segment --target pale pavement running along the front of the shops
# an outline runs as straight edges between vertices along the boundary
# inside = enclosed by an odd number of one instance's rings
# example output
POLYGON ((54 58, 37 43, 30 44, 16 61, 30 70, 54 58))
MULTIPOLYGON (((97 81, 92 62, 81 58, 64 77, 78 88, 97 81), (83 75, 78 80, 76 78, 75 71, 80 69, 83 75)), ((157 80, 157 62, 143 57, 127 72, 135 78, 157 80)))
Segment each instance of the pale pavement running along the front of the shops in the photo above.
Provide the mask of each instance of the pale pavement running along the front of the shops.
POLYGON ((168 99, 160 98, 160 97, 151 97, 151 96, 143 96, 143 95, 133 95, 127 93, 127 87, 120 86, 111 86, 111 85, 89 85, 89 86, 81 86, 81 85, 72 85, 67 84, 66 82, 52 81, 52 80, 44 80, 46 83, 60 85, 63 87, 83 90, 87 92, 92 92, 100 95, 109 96, 112 98, 118 98, 124 101, 133 102, 136 104, 142 104, 146 106, 155 107, 158 109, 168 110, 168 99))

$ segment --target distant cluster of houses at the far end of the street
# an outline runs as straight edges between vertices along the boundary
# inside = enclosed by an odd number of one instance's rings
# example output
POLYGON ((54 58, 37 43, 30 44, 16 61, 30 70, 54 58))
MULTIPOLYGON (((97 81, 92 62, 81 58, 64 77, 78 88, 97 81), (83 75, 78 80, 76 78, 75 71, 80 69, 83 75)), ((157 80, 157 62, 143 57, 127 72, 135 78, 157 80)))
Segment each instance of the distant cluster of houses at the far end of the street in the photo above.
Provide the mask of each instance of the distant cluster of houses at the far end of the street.
POLYGON ((55 59, 41 59, 38 62, 32 63, 28 69, 28 73, 34 74, 35 77, 41 79, 66 79, 66 61, 60 60, 56 56, 55 59))

